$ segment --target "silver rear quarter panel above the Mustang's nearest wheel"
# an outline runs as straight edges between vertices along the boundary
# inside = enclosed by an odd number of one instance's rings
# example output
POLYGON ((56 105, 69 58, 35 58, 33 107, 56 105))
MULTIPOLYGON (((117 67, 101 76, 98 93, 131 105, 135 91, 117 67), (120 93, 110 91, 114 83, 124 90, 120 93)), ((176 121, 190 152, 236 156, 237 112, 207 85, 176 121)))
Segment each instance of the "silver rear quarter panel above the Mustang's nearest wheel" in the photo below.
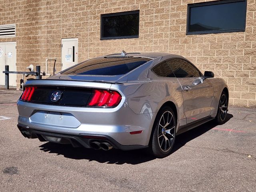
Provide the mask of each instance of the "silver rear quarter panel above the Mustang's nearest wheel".
MULTIPOLYGON (((147 123, 146 143, 150 140, 151 130, 158 110, 168 101, 172 101, 177 109, 178 122, 184 119, 182 89, 177 78, 162 78, 128 82, 124 85, 112 85, 111 90, 121 90, 126 97, 124 101, 136 114, 150 116, 147 123)), ((129 118, 129 117, 128 117, 129 118)), ((179 124, 179 123, 178 123, 179 124)))

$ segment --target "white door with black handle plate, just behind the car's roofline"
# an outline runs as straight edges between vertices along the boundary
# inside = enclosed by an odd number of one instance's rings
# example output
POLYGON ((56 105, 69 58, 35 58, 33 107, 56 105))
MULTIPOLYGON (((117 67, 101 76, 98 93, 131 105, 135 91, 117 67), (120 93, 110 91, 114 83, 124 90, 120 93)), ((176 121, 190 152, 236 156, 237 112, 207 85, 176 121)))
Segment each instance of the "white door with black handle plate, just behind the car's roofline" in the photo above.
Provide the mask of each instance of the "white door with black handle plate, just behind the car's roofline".
POLYGON ((78 38, 62 39, 62 70, 78 63, 78 38))

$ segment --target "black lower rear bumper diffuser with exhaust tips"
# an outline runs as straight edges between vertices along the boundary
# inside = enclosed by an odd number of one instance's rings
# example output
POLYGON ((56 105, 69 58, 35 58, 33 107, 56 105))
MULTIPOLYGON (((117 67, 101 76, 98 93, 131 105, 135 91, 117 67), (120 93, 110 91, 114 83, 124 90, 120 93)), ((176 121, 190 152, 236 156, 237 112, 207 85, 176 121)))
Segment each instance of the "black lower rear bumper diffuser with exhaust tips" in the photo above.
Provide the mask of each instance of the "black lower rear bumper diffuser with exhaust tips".
POLYGON ((107 135, 100 135, 100 134, 79 134, 79 135, 72 135, 72 134, 59 134, 54 132, 45 132, 40 130, 35 130, 28 128, 28 126, 18 124, 18 129, 20 130, 21 134, 26 138, 38 138, 40 141, 49 141, 49 142, 56 142, 61 144, 71 144, 73 147, 85 147, 91 148, 92 142, 108 142, 114 148, 120 150, 134 150, 140 148, 146 148, 148 146, 142 145, 122 145, 118 143, 116 140, 111 138, 107 135), (51 138, 56 138, 56 140, 51 140, 51 138))

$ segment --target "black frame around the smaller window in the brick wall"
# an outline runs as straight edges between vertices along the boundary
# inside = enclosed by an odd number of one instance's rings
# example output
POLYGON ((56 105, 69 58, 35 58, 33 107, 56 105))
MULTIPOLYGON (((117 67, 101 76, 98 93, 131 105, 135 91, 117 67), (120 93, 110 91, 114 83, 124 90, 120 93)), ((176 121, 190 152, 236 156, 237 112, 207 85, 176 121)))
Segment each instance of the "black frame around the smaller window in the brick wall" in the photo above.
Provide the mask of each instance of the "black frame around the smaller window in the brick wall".
POLYGON ((140 35, 140 10, 135 11, 125 11, 125 12, 118 12, 118 13, 109 13, 109 14, 101 14, 100 15, 100 40, 109 40, 109 39, 128 39, 128 38, 139 38, 140 35), (103 22, 102 19, 108 16, 122 16, 122 15, 129 15, 129 14, 139 14, 139 26, 138 26, 138 35, 132 36, 115 36, 115 37, 103 37, 103 22))

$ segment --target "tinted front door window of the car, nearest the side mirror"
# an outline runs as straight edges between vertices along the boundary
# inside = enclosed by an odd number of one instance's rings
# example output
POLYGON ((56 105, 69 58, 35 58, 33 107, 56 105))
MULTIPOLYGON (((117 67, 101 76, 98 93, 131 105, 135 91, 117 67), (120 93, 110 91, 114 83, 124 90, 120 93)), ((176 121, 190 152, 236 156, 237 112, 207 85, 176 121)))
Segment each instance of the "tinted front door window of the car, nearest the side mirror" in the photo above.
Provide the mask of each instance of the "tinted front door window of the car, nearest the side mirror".
POLYGON ((183 59, 172 59, 168 61, 168 64, 177 78, 200 77, 199 71, 183 59))

